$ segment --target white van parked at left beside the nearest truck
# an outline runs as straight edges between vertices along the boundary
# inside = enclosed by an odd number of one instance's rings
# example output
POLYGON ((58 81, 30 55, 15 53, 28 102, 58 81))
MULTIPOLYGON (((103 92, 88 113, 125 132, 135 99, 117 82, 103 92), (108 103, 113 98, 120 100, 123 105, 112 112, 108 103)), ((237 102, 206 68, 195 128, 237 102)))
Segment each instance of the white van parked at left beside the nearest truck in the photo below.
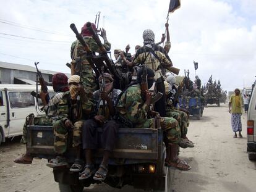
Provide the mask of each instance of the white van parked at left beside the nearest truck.
MULTIPOLYGON (((0 144, 6 138, 22 135, 28 114, 44 114, 38 110, 42 107, 41 99, 36 103, 36 98, 30 94, 35 90, 35 85, 0 84, 0 144)), ((53 88, 48 86, 48 90, 51 97, 53 88)))

